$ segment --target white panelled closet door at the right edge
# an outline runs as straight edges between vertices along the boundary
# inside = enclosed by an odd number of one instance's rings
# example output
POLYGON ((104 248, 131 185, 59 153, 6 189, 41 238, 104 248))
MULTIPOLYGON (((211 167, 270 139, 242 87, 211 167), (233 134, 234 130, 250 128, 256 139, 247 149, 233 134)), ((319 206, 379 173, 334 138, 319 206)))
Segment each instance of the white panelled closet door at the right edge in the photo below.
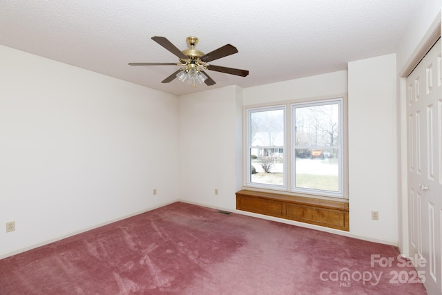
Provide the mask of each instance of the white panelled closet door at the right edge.
POLYGON ((410 252, 428 294, 441 294, 441 40, 407 77, 410 252))

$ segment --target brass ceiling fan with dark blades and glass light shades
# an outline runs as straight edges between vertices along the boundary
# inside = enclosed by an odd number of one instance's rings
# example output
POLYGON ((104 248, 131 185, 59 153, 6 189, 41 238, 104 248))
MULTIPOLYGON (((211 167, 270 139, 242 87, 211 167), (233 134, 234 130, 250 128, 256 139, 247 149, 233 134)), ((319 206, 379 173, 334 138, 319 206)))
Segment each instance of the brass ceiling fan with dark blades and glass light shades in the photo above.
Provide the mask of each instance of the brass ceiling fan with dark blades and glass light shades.
POLYGON ((218 49, 211 51, 210 53, 202 53, 200 50, 194 49, 198 43, 197 37, 187 37, 187 44, 189 49, 180 50, 171 43, 165 37, 152 37, 153 41, 157 42, 171 53, 179 58, 177 63, 166 62, 130 62, 129 66, 182 66, 179 70, 175 71, 169 77, 166 77, 162 83, 169 83, 173 79, 178 78, 181 82, 186 82, 192 87, 197 87, 197 82, 205 83, 208 86, 215 84, 215 81, 204 70, 214 70, 215 72, 227 73, 231 75, 238 75, 246 77, 249 75, 248 70, 240 70, 238 68, 226 68, 224 66, 214 66, 208 64, 209 61, 220 59, 221 57, 227 57, 238 53, 236 47, 230 44, 224 45, 218 49))

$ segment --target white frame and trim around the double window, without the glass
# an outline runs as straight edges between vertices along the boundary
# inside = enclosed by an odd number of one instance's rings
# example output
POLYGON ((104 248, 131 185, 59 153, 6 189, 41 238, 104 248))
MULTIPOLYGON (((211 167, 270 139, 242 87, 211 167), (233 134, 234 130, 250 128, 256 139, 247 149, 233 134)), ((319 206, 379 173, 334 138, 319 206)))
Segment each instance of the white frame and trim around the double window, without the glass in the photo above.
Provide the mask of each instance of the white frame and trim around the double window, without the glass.
POLYGON ((269 191, 284 193, 291 196, 305 196, 315 198, 323 198, 325 200, 333 199, 348 199, 348 151, 347 151, 347 94, 328 95, 324 97, 309 97, 306 99, 293 99, 285 102, 274 102, 267 104, 256 104, 243 106, 243 189, 254 189, 258 191, 269 191), (294 189, 294 169, 295 169, 295 156, 294 156, 294 135, 291 131, 293 114, 292 106, 301 104, 327 104, 327 102, 340 102, 340 148, 339 148, 339 191, 322 191, 318 189, 294 189), (267 111, 272 108, 285 108, 285 146, 284 146, 284 185, 278 186, 273 184, 257 184, 251 182, 251 160, 250 160, 250 115, 251 110, 267 111), (293 180, 293 181, 292 181, 293 180))

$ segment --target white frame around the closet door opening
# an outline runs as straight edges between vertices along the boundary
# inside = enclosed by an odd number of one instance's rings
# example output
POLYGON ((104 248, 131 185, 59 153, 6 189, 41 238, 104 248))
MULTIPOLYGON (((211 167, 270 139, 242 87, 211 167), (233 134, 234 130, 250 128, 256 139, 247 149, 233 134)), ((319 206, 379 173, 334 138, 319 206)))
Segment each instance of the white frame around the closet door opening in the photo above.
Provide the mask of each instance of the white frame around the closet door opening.
POLYGON ((408 234, 409 220, 408 220, 408 142, 407 142, 407 76, 412 73, 414 68, 419 64, 419 61, 425 56, 425 54, 432 48, 433 44, 436 43, 437 39, 441 37, 441 23, 442 23, 442 10, 439 11, 434 21, 431 23, 427 32, 419 42, 419 44, 414 49, 414 52, 408 59, 408 61, 403 66, 401 72, 398 75, 398 107, 399 107, 399 117, 398 117, 398 127, 401 134, 399 146, 401 147, 401 152, 398 153, 398 163, 400 163, 400 183, 398 184, 399 200, 398 200, 398 248, 403 256, 410 256, 409 240, 410 236, 408 234))

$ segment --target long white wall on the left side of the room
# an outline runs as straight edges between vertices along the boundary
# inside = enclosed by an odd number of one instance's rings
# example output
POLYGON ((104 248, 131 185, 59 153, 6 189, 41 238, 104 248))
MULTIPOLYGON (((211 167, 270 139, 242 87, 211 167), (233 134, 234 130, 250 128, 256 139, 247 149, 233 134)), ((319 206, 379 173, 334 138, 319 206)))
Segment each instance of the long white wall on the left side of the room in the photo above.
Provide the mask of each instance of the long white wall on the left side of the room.
POLYGON ((178 198, 175 95, 4 46, 0 59, 0 258, 178 198))

